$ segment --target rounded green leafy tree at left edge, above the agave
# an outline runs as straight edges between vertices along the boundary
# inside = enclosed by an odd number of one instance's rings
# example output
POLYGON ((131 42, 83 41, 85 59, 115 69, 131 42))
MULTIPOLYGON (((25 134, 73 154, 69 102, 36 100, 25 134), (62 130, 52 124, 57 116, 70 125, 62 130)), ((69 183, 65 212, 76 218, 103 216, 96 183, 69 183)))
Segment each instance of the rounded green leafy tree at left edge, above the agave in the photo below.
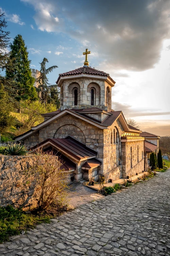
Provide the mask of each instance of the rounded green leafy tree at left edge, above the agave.
POLYGON ((0 134, 14 123, 14 117, 10 115, 13 104, 9 100, 7 91, 4 86, 0 85, 0 134))

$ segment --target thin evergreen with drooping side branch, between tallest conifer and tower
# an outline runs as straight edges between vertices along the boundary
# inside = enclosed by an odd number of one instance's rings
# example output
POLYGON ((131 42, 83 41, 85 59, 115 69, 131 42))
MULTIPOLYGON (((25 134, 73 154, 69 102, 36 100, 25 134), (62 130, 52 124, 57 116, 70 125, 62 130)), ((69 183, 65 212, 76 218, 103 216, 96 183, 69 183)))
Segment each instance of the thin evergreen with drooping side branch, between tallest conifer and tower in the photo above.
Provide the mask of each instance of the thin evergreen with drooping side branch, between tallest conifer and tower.
POLYGON ((40 75, 36 79, 38 85, 38 92, 40 95, 40 99, 42 103, 47 103, 49 99, 49 83, 48 83, 48 78, 47 75, 52 72, 55 68, 58 68, 57 66, 52 66, 48 69, 46 69, 46 63, 48 63, 48 59, 44 58, 43 61, 40 64, 41 69, 40 69, 40 75))

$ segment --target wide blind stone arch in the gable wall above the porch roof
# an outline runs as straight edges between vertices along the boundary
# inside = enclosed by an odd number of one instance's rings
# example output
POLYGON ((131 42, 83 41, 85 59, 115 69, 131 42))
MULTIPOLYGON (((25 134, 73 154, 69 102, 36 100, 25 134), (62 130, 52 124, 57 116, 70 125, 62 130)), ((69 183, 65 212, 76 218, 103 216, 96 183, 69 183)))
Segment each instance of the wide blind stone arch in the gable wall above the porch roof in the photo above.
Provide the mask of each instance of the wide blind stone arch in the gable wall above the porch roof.
POLYGON ((82 143, 86 144, 86 139, 84 136, 83 131, 76 125, 72 124, 65 124, 60 126, 54 134, 54 139, 64 139, 67 136, 71 136, 76 140, 81 141, 82 143))

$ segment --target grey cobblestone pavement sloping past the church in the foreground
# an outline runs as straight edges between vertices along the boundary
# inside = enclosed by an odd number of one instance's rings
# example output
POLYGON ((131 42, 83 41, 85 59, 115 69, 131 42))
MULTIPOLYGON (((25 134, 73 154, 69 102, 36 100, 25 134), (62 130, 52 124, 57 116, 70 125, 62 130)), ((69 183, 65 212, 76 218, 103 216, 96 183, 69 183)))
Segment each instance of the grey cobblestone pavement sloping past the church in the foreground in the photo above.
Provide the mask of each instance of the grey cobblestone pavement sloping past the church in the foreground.
POLYGON ((170 255, 170 170, 0 244, 0 255, 170 255))

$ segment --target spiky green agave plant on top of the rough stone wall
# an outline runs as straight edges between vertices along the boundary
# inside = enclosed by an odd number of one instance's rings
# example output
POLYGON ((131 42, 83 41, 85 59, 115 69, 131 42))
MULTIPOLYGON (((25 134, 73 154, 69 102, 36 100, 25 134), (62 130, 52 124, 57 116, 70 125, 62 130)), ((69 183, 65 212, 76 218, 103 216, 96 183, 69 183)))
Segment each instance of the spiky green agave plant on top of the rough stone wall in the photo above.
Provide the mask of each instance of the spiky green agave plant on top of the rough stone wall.
POLYGON ((8 145, 5 152, 9 156, 24 156, 28 153, 26 146, 21 143, 8 145))

